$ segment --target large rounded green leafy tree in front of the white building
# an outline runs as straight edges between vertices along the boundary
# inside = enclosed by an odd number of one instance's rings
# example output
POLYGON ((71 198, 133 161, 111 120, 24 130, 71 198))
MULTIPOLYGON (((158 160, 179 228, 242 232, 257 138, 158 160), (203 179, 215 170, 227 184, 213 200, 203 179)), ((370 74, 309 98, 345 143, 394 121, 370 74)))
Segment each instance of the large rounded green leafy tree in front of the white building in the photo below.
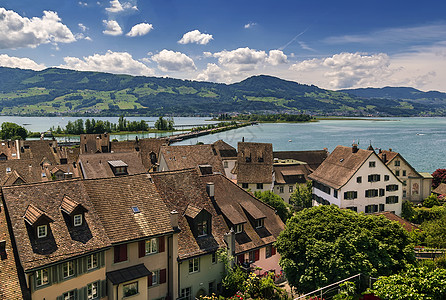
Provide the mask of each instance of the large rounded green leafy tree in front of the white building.
POLYGON ((276 247, 288 281, 300 293, 358 273, 390 275, 415 260, 409 236, 398 223, 334 205, 295 214, 276 247))

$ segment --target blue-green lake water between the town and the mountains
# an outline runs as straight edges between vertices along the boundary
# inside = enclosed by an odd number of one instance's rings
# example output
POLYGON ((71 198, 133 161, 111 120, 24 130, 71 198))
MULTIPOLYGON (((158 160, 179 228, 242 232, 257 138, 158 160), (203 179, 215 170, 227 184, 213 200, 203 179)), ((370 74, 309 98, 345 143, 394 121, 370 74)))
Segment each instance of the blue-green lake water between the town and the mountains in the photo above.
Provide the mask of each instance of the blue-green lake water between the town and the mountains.
MULTIPOLYGON (((0 116, 0 122, 14 122, 31 131, 46 131, 51 126, 64 127, 77 117, 15 117, 0 116)), ((82 118, 87 119, 87 118, 82 118)), ((117 123, 118 117, 98 117, 117 123)), ((146 120, 151 126, 156 117, 127 117, 129 121, 146 120)), ((175 125, 214 123, 208 118, 174 118, 175 125)), ((160 134, 116 135, 119 140, 134 139, 135 136, 157 137, 160 134)), ((260 124, 225 131, 213 135, 185 140, 177 145, 193 145, 197 142, 213 143, 223 139, 237 147, 242 138, 246 142, 272 143, 276 151, 320 150, 332 151, 337 145, 350 146, 354 141, 360 148, 371 143, 375 148, 397 151, 419 172, 432 173, 446 168, 446 118, 385 118, 363 120, 321 120, 312 123, 260 124)), ((62 140, 64 140, 62 138, 62 140)), ((71 139, 74 140, 74 139, 71 139)))

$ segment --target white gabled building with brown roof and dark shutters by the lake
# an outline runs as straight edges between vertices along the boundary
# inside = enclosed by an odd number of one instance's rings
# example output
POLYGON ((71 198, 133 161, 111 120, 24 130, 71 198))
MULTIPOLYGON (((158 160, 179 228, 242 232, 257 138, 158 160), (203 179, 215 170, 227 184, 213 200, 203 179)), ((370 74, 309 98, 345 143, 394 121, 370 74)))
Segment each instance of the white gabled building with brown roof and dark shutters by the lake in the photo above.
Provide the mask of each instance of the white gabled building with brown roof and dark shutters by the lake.
POLYGON ((337 146, 309 178, 314 205, 401 215, 403 184, 373 150, 337 146))

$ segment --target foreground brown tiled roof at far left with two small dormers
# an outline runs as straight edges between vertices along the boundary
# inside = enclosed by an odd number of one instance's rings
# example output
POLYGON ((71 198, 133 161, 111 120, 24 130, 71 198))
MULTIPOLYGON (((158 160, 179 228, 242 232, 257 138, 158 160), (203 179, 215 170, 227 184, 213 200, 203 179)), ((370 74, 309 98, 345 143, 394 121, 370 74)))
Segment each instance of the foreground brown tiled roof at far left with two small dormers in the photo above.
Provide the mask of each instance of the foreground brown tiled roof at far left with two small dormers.
MULTIPOLYGON (((80 180, 52 181, 3 187, 3 199, 10 217, 20 262, 26 271, 110 246, 99 217, 80 180), (73 227, 60 205, 65 196, 88 211, 82 226, 73 227), (24 219, 32 204, 54 220, 48 236, 37 238, 24 219)), ((115 219, 114 219, 115 221, 115 219)))

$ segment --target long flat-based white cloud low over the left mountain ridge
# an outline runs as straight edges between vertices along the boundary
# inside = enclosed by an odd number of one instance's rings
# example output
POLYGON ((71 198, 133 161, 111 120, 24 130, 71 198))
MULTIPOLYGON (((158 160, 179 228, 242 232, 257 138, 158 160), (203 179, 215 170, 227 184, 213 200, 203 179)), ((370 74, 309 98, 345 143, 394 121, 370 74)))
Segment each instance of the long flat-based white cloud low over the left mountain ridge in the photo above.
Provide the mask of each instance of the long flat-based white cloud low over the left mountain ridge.
POLYGON ((74 69, 79 71, 98 71, 117 74, 144 75, 150 76, 154 72, 151 68, 140 61, 133 59, 127 52, 113 52, 108 50, 106 54, 94 54, 77 57, 64 57, 65 64, 61 68, 74 69))

